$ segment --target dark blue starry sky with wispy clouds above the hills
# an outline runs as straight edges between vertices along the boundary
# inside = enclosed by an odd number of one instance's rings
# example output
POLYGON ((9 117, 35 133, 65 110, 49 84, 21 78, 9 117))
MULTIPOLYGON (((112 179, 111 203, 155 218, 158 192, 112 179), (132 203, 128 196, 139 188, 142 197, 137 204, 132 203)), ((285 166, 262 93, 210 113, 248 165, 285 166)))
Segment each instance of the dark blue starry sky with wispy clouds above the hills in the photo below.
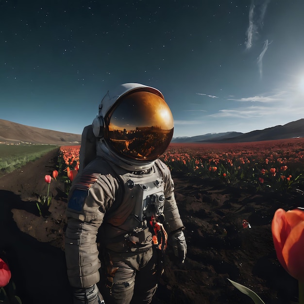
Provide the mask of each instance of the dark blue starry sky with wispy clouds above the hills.
POLYGON ((0 118, 81 134, 107 90, 159 89, 174 137, 304 118, 303 0, 0 0, 0 118))

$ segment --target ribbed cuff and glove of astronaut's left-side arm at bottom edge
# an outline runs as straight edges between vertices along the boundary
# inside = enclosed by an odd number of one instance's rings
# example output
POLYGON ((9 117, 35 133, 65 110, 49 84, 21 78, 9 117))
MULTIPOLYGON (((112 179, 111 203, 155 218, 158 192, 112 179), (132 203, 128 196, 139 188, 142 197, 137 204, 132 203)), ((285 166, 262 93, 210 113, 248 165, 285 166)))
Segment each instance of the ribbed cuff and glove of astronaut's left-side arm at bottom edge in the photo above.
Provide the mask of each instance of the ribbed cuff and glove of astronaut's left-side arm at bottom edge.
POLYGON ((87 288, 75 288, 73 300, 74 304, 104 304, 96 284, 87 288))

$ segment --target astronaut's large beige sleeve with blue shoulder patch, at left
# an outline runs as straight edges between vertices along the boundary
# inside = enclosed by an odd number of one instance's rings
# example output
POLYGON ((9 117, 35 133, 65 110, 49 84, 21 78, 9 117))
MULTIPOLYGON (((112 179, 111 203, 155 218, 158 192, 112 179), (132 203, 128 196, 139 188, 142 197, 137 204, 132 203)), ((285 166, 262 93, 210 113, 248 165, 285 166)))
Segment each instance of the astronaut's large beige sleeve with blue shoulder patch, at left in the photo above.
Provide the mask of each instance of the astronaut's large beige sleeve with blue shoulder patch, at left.
POLYGON ((118 183, 111 175, 86 174, 73 184, 66 211, 65 253, 69 283, 85 288, 99 282, 96 237, 106 210, 112 205, 118 183))

